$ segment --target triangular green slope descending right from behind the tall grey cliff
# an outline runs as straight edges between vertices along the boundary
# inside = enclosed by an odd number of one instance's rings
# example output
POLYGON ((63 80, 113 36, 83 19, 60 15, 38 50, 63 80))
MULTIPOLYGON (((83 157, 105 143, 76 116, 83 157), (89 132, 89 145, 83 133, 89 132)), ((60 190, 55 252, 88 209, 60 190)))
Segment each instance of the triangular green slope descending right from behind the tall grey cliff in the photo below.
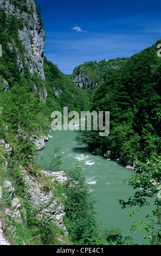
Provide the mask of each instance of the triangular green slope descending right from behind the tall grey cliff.
POLYGON ((46 86, 48 97, 46 106, 48 117, 53 111, 63 111, 63 107, 68 107, 68 111, 86 110, 89 107, 89 99, 83 90, 76 87, 75 84, 64 75, 56 65, 48 62, 44 57, 44 74, 46 77, 46 86))

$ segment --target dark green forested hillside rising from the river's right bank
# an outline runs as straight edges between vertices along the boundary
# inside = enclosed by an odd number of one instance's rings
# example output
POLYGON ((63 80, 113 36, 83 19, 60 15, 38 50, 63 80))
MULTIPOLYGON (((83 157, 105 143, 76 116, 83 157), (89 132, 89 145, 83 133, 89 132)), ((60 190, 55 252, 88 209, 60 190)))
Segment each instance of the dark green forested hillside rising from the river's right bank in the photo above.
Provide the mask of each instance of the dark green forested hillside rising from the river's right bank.
POLYGON ((81 132, 78 140, 95 154, 145 161, 160 154, 160 65, 157 45, 129 58, 120 69, 110 69, 92 97, 91 111, 110 111, 110 135, 81 132))

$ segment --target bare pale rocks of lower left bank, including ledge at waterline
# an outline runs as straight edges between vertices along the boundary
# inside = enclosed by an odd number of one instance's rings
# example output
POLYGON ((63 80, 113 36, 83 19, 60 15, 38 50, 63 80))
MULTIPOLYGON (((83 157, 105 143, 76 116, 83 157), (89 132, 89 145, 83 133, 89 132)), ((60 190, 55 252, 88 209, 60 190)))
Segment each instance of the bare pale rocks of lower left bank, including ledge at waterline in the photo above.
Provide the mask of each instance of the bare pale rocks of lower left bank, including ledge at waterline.
MULTIPOLYGON (((33 137, 31 141, 36 145, 37 150, 41 150, 44 148, 44 142, 48 141, 52 136, 44 136, 42 135, 40 138, 33 137)), ((5 151, 7 154, 7 158, 5 159, 5 169, 8 166, 8 161, 10 160, 10 155, 12 152, 12 148, 9 144, 5 143, 3 139, 0 140, 0 146, 2 151, 5 151)), ((14 172, 14 170, 12 170, 14 172)), ((12 223, 23 223, 25 221, 26 210, 25 210, 25 202, 28 202, 33 209, 36 210, 36 216, 42 222, 48 222, 48 220, 53 220, 54 223, 59 225, 59 227, 63 230, 63 232, 68 235, 66 231, 66 227, 63 224, 63 217, 65 216, 64 205, 61 203, 59 197, 54 196, 54 190, 56 189, 56 182, 64 182, 67 180, 65 172, 56 171, 56 172, 47 172, 41 170, 40 173, 36 175, 30 175, 27 171, 20 166, 21 176, 25 182, 25 186, 27 187, 27 194, 25 194, 22 202, 15 195, 15 189, 12 186, 10 180, 3 181, 3 187, 7 192, 8 197, 10 198, 10 206, 5 208, 3 212, 1 212, 0 219, 0 245, 10 245, 9 242, 5 239, 3 229, 8 230, 14 236, 16 234, 16 227, 12 223), (44 183, 44 176, 51 177, 51 184, 48 187, 44 183), (22 216, 23 212, 23 216, 22 216), (11 222, 9 221, 11 220, 11 222), (10 223, 8 227, 5 225, 5 222, 10 223)), ((63 241, 62 241, 63 243, 63 241)))

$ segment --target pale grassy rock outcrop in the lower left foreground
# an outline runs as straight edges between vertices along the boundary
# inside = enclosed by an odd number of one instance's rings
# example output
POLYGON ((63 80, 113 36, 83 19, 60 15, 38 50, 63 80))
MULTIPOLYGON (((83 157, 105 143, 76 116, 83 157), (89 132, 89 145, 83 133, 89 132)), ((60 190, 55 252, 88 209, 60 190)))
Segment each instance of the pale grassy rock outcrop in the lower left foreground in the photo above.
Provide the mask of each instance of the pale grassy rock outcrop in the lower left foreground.
MULTIPOLYGON (((25 229, 27 216, 30 215, 30 213, 27 214, 27 211, 30 211, 31 215, 34 212, 33 218, 36 215, 37 220, 46 225, 48 225, 48 222, 55 223, 62 230, 63 236, 68 237, 66 227, 63 224, 64 206, 59 196, 55 196, 54 193, 56 191, 55 182, 56 184, 57 182, 62 184, 67 180, 65 173, 63 171, 48 172, 41 169, 35 175, 32 175, 24 167, 18 166, 19 179, 22 180, 21 182, 24 184, 26 191, 22 199, 15 193, 15 181, 12 184, 10 178, 7 179, 5 178, 6 175, 4 175, 4 173, 8 172, 12 148, 3 139, 0 140, 0 148, 0 157, 3 156, 4 160, 3 164, 0 161, 0 245, 13 245, 20 240, 20 237, 17 236, 17 225, 21 225, 21 230, 25 229), (49 177, 50 181, 47 181, 49 177), (48 182, 48 184, 45 182, 48 182)), ((17 167, 12 169, 12 172, 16 173, 17 167)), ((62 244, 65 242, 65 237, 63 236, 57 236, 57 239, 62 244)), ((23 240, 21 242, 25 245, 23 240)))

